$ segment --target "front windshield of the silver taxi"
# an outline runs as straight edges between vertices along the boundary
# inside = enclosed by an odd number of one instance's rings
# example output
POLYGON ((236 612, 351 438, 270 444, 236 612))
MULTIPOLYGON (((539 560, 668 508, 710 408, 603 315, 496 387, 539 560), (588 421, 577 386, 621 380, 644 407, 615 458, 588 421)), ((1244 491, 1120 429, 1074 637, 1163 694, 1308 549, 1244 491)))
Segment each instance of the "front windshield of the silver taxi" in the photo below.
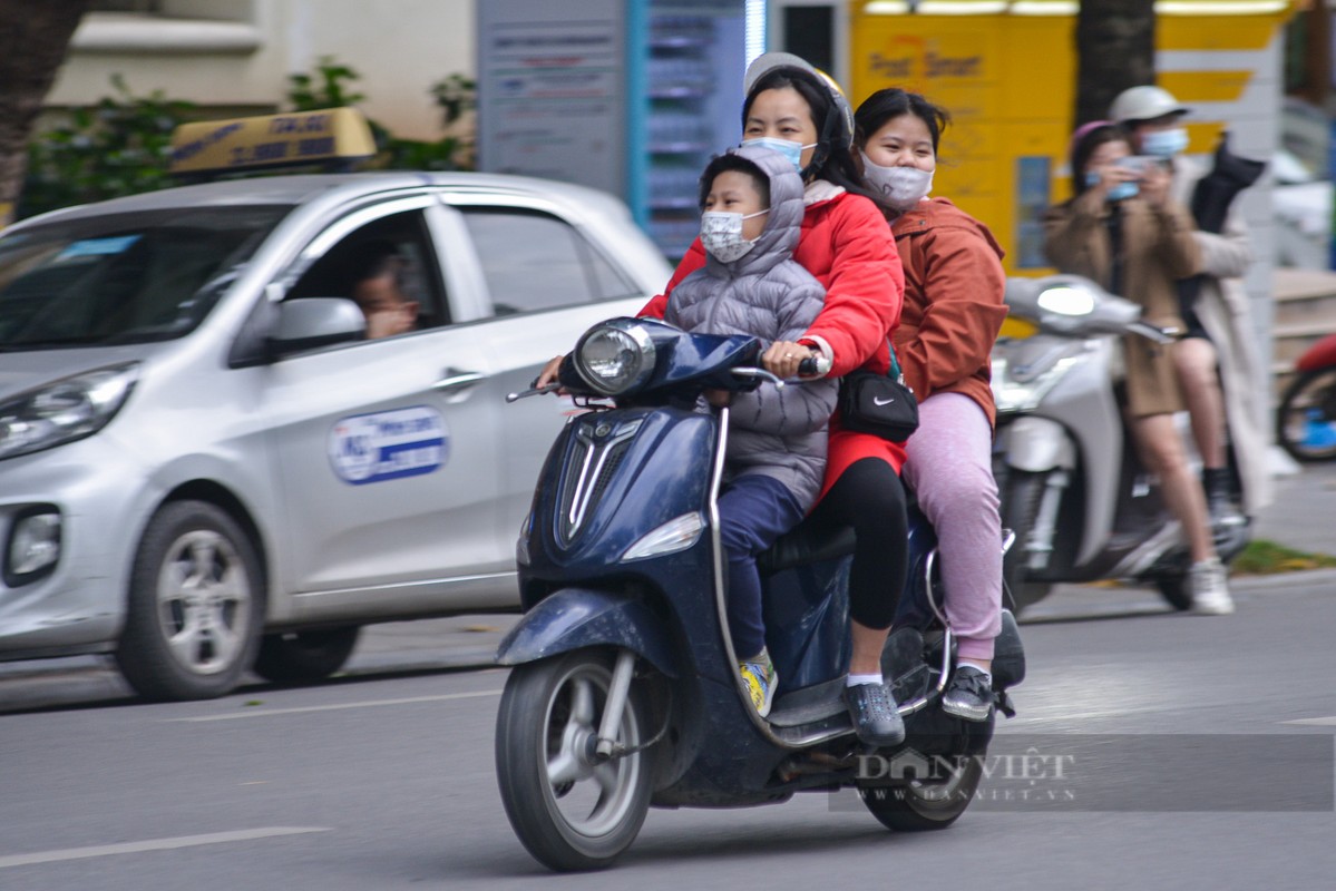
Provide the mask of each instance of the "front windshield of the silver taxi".
POLYGON ((3 236, 0 351, 182 337, 290 210, 164 208, 3 236))

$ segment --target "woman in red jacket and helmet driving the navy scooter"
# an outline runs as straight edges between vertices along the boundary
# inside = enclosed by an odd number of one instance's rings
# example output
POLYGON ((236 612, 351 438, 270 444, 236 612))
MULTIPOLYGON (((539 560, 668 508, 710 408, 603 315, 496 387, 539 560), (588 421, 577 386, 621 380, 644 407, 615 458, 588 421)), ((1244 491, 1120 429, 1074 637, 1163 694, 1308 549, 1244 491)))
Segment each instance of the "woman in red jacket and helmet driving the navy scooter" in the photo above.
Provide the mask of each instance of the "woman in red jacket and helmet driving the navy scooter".
MULTIPOLYGON (((830 377, 855 369, 886 374, 887 341, 900 315, 904 277, 886 220, 851 154, 852 110, 834 81, 790 53, 758 57, 744 87, 743 140, 784 152, 802 172, 806 212, 794 259, 826 287, 816 321, 796 341, 772 343, 762 357, 763 367, 791 378, 803 359, 820 355, 831 362, 830 377)), ((697 239, 665 293, 640 314, 663 318, 673 287, 704 264, 697 239)), ((546 365, 540 386, 556 381, 561 359, 546 365)), ((828 462, 839 470, 827 478, 818 510, 856 534, 847 701, 859 737, 870 744, 888 744, 904 733, 880 663, 904 585, 907 525, 898 476, 903 461, 902 446, 843 429, 838 413, 832 418, 828 462)))

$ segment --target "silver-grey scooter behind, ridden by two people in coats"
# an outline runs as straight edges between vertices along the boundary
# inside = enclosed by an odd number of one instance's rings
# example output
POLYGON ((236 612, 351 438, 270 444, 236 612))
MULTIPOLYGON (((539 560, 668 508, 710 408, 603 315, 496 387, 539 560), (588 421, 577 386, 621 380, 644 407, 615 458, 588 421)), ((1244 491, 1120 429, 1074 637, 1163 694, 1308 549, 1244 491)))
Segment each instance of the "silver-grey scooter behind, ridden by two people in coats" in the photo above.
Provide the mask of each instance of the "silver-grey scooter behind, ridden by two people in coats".
MULTIPOLYGON (((1055 582, 1118 578, 1190 608, 1186 541, 1141 464, 1122 405, 1122 337, 1170 343, 1174 333, 1075 275, 1013 278, 1006 303, 993 350, 994 473, 1002 525, 1017 538, 1003 561, 1013 606, 1042 600, 1055 582)), ((1186 414, 1178 425, 1190 442, 1186 414)), ((1218 530, 1221 560, 1249 537, 1246 520, 1218 530)))

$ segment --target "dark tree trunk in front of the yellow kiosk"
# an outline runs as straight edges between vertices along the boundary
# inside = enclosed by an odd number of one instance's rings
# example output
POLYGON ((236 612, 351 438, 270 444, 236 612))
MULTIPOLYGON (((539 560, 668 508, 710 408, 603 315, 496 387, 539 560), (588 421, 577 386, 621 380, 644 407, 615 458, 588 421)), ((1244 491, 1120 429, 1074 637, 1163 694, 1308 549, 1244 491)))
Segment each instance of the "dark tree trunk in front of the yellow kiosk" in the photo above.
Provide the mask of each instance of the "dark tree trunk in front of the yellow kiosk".
POLYGON ((1114 96, 1156 81, 1154 0, 1082 0, 1073 130, 1109 116, 1114 96))

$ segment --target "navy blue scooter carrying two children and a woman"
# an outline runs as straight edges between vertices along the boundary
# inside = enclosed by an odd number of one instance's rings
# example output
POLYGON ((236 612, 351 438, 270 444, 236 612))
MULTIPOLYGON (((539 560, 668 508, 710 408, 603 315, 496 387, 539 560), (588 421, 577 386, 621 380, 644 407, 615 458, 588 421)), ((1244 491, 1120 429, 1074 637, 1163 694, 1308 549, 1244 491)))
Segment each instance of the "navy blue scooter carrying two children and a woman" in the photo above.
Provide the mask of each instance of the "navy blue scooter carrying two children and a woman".
MULTIPOLYGON (((762 561, 779 689, 768 717, 751 704, 717 533, 728 410, 699 397, 783 386, 755 367, 760 347, 623 318, 587 331, 562 365, 561 386, 588 411, 541 470, 517 546, 525 614, 497 653, 513 667, 497 715, 501 799, 525 848, 553 870, 611 864, 651 806, 741 807, 855 787, 884 826, 935 830, 974 797, 993 717, 963 721, 938 705, 955 641, 935 536, 918 513, 910 590, 882 659, 904 743, 863 747, 840 697, 846 529, 803 524, 762 561)), ((1006 689, 1023 673, 1007 612, 993 664, 1006 713, 1006 689)))

